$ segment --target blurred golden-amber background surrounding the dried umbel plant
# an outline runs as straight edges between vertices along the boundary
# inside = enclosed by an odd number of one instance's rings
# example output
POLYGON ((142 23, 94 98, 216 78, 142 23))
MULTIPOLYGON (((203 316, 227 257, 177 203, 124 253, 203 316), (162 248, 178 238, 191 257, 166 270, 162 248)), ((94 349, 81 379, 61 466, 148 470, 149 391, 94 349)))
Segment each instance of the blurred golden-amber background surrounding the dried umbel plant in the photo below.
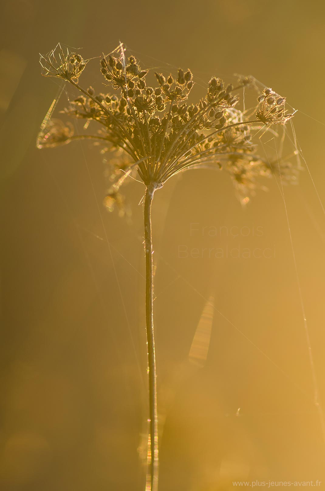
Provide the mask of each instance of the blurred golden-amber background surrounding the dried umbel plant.
MULTIPOLYGON (((87 142, 35 148, 58 89, 41 77, 38 53, 60 41, 97 56, 121 39, 152 67, 190 67, 205 83, 254 75, 299 109, 297 136, 325 202, 324 2, 3 0, 1 10, 0 488, 142 490, 144 189, 125 188, 128 223, 102 208, 105 167, 87 142)), ((96 62, 82 77, 101 90, 96 62)), ((65 102, 63 94, 57 109, 65 102)), ((245 210, 228 176, 210 170, 156 194, 160 491, 232 489, 235 479, 325 482, 288 225, 275 181, 266 184, 245 210), (191 234, 191 223, 200 230, 191 234), (246 228, 210 237, 202 226, 246 228), (275 254, 183 258, 179 246, 275 254), (198 326, 209 345, 199 365, 198 326)), ((325 403, 325 216, 307 171, 285 197, 325 403)))

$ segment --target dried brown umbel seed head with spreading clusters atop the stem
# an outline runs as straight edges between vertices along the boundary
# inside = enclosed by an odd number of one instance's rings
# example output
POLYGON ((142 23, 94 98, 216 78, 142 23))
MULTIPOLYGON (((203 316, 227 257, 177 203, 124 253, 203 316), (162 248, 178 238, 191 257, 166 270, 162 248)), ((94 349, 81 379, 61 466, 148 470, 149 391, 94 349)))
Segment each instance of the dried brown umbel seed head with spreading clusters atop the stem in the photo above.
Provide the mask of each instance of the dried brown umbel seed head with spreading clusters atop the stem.
MULTIPOLYGON (((148 71, 141 68, 133 55, 125 57, 122 43, 114 52, 100 58, 104 85, 111 86, 113 93, 96 94, 92 87, 81 87, 78 78, 86 63, 79 54, 70 54, 68 50, 64 53, 60 45, 46 57, 42 56, 41 64, 44 75, 62 78, 80 91, 64 110, 65 114, 95 121, 98 129, 92 135, 72 138, 71 128, 56 121, 55 126, 39 137, 39 148, 92 138, 102 143, 106 151, 123 151, 130 167, 136 168, 144 184, 154 189, 161 188, 181 171, 215 165, 225 168, 232 177, 237 176, 236 190, 241 199, 246 199, 254 186, 244 185, 238 176, 243 175, 244 167, 247 167, 246 174, 251 175, 251 162, 257 161, 256 156, 254 161, 251 159, 256 152, 252 143, 254 133, 263 126, 285 124, 293 116, 285 110, 285 98, 270 88, 265 88, 258 97, 255 119, 236 109, 239 89, 256 88, 251 76, 240 76, 235 87, 212 77, 206 95, 196 104, 189 103, 194 85, 189 69, 179 69, 176 75, 168 77, 155 73, 157 84, 147 85, 148 71)), ((258 161, 260 164, 254 164, 254 169, 259 170, 260 176, 268 175, 268 162, 262 158, 258 161)), ((254 170, 254 182, 257 174, 254 170)), ((114 183, 115 191, 124 182, 125 177, 119 177, 114 183)))

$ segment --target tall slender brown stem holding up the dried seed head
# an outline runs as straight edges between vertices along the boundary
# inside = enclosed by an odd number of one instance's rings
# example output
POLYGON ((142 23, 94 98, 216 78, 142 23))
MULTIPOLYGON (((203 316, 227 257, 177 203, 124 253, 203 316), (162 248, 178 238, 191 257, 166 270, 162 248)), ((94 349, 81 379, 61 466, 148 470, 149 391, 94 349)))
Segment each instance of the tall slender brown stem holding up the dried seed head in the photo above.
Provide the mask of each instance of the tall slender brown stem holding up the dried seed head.
POLYGON ((149 184, 145 196, 145 249, 146 249, 146 329, 148 344, 148 375, 149 375, 149 437, 146 491, 157 491, 158 488, 158 416, 156 361, 153 336, 153 268, 152 268, 152 237, 151 237, 151 203, 156 187, 149 184), (149 446, 150 440, 150 446, 149 446))

